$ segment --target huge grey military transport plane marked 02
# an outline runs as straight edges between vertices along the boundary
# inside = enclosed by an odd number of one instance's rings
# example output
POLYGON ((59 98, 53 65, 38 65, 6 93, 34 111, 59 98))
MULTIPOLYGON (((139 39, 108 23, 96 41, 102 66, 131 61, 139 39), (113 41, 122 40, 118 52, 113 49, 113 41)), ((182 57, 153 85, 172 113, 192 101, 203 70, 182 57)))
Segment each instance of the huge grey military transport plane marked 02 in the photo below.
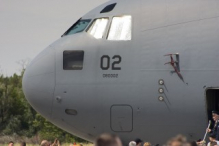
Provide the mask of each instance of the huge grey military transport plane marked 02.
POLYGON ((104 3, 29 64, 23 90, 37 112, 88 141, 203 138, 219 109, 219 1, 104 3))

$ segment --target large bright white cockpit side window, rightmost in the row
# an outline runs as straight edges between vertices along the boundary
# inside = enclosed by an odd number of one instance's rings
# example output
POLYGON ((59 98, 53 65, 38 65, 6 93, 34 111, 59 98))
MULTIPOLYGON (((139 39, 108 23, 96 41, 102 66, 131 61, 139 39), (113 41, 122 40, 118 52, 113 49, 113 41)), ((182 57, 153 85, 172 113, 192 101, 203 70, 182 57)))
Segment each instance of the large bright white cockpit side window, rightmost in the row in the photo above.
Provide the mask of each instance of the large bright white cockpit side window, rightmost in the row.
POLYGON ((110 30, 108 33, 108 40, 131 40, 132 17, 121 16, 113 17, 110 30))

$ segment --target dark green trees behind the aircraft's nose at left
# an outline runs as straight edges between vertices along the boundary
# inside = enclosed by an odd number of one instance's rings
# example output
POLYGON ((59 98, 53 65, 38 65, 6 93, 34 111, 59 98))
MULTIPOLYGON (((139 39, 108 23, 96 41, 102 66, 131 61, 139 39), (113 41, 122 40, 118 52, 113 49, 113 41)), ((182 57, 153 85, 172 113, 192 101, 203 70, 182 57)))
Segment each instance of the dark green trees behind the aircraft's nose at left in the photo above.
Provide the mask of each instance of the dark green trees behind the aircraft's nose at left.
POLYGON ((22 91, 22 77, 14 74, 11 77, 0 76, 0 136, 19 135, 62 142, 85 142, 58 127, 38 114, 25 99, 22 91))

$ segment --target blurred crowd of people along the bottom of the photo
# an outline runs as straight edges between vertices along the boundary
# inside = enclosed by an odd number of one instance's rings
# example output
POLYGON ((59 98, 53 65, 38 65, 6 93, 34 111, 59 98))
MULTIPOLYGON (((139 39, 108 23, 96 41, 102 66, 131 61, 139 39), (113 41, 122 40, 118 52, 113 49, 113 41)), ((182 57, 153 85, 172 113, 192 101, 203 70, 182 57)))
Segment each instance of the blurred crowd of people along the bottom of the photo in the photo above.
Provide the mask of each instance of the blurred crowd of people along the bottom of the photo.
MULTIPOLYGON (((213 128, 210 129, 210 122, 208 128, 206 129, 206 134, 203 140, 198 141, 187 141, 185 136, 177 135, 167 141, 163 146, 219 146, 219 111, 212 111, 212 119, 214 120, 213 128), (209 133, 209 141, 206 143, 205 138, 207 133, 209 133)), ((8 146, 13 146, 12 141, 9 142, 8 146)), ((75 146, 83 146, 82 144, 75 146)), ((20 146, 26 146, 25 142, 21 142, 20 146)), ((53 143, 50 143, 47 140, 43 140, 40 143, 40 146, 61 146, 59 140, 55 139, 53 143)), ((72 145, 70 145, 72 146, 72 145)), ((94 146, 123 146, 121 139, 117 135, 113 134, 102 134, 100 135, 94 146)), ((143 142, 141 139, 137 138, 133 141, 130 141, 128 146, 159 146, 152 145, 150 142, 143 142)))

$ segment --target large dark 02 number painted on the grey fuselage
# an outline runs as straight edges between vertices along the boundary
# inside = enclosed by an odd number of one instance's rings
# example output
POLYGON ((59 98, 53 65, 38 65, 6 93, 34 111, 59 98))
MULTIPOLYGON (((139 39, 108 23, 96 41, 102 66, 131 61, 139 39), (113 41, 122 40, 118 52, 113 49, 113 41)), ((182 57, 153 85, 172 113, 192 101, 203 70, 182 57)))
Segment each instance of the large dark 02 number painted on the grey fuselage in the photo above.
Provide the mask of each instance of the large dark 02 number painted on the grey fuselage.
MULTIPOLYGON (((121 70, 121 67, 116 67, 115 65, 120 64, 120 62, 122 61, 122 57, 120 55, 114 55, 112 59, 116 59, 112 63, 112 70, 121 70)), ((110 57, 108 55, 103 55, 100 58, 100 68, 102 70, 108 70, 110 68, 110 57), (104 65, 105 62, 106 64, 104 65)))

